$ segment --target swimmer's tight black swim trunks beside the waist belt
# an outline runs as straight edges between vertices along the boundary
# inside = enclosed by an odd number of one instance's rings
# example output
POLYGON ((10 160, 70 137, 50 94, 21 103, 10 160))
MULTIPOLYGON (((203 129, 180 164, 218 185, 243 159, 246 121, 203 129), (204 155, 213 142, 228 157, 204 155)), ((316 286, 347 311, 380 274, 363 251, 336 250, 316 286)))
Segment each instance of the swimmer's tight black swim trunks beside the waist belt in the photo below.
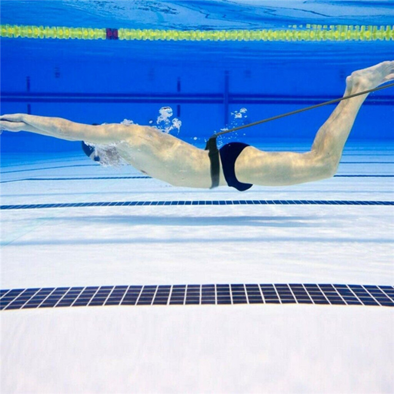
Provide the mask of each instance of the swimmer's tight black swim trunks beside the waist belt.
POLYGON ((235 161, 240 153, 247 147, 248 144, 243 142, 230 142, 219 149, 220 160, 222 161, 223 173, 226 182, 229 186, 243 192, 250 189, 253 184, 239 182, 235 176, 235 161))

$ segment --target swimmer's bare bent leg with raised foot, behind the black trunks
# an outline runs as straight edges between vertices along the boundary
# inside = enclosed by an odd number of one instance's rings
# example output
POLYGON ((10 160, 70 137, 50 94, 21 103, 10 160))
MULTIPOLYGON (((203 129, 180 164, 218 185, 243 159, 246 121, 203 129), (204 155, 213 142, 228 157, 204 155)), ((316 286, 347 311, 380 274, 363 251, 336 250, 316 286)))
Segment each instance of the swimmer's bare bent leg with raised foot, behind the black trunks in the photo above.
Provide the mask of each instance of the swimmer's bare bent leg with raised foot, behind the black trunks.
MULTIPOLYGON (((394 80, 394 61, 355 71, 346 79, 345 96, 394 80)), ((306 153, 263 152, 245 148, 235 163, 240 182, 263 186, 294 185, 333 176, 357 113, 367 95, 340 101, 306 153)))

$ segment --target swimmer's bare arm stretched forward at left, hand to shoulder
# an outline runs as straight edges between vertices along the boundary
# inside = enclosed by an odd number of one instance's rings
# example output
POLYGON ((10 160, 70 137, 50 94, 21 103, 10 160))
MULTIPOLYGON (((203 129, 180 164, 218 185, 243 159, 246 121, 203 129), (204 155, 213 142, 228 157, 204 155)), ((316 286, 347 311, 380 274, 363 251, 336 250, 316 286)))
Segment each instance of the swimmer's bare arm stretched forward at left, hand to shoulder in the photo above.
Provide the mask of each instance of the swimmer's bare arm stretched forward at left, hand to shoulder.
MULTIPOLYGON (((138 127, 137 125, 131 125, 138 127)), ((120 124, 85 125, 63 118, 52 118, 28 114, 10 114, 0 116, 0 130, 30 131, 49 135, 68 141, 90 141, 108 144, 130 136, 130 126, 120 124)))

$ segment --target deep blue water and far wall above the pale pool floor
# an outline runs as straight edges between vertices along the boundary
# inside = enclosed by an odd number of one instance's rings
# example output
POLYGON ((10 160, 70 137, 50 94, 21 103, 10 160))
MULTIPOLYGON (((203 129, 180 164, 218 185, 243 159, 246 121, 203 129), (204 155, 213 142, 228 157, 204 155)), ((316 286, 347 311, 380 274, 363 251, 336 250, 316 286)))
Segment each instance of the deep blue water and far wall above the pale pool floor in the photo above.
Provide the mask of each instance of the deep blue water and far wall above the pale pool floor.
MULTIPOLYGON (((256 30, 393 22, 390 1, 2 1, 1 24, 113 29, 256 30)), ((391 26, 391 25, 390 25, 391 26)), ((170 132, 203 146, 226 127, 341 97, 352 71, 391 60, 394 41, 148 41, 1 39, 1 113, 81 123, 124 119, 155 125, 162 107, 182 122, 170 132), (246 109, 246 112, 244 112, 246 109), (240 112, 242 110, 242 112, 240 112)), ((371 94, 349 143, 393 140, 394 88, 371 94)), ((310 144, 333 105, 222 137, 310 144)), ((159 125, 163 127, 163 123, 159 125)), ((79 151, 80 144, 3 133, 2 153, 79 151)))

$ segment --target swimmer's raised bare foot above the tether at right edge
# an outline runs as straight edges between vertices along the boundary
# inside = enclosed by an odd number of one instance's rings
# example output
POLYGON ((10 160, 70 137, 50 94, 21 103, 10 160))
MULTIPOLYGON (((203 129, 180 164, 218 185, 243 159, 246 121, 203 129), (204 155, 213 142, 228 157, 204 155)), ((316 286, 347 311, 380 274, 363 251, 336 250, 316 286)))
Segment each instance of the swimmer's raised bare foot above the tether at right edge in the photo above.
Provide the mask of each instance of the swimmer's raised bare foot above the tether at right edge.
POLYGON ((346 93, 357 93, 374 89, 379 85, 394 80, 394 61, 387 61, 376 66, 352 72, 346 78, 346 93))

